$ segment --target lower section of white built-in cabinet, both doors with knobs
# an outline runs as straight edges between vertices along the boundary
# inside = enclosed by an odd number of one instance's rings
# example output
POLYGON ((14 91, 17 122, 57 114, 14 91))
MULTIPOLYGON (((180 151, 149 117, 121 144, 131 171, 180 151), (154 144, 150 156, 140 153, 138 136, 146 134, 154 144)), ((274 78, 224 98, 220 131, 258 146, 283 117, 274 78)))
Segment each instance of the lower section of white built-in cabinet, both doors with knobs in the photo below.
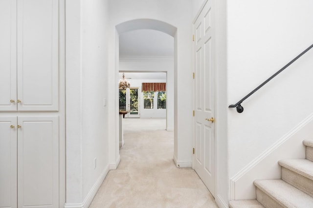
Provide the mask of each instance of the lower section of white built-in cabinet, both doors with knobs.
POLYGON ((58 128, 58 117, 0 118, 0 208, 58 207, 58 128))

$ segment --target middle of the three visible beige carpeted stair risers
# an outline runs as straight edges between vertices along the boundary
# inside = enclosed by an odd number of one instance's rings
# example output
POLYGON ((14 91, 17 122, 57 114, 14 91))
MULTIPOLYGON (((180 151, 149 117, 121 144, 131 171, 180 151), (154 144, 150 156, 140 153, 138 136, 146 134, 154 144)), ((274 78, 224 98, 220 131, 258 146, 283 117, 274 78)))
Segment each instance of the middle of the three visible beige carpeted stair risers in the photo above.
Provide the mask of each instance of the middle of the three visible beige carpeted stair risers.
POLYGON ((282 180, 313 197, 313 181, 292 170, 282 167, 282 180))

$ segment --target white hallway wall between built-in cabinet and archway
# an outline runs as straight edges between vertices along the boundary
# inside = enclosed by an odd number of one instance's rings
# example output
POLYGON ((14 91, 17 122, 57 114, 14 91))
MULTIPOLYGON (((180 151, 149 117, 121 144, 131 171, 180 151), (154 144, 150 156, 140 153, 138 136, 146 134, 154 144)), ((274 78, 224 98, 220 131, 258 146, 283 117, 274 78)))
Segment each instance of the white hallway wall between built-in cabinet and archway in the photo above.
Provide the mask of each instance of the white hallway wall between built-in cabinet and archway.
POLYGON ((107 9, 107 0, 66 1, 68 208, 88 207, 109 170, 108 109, 103 105, 107 9))

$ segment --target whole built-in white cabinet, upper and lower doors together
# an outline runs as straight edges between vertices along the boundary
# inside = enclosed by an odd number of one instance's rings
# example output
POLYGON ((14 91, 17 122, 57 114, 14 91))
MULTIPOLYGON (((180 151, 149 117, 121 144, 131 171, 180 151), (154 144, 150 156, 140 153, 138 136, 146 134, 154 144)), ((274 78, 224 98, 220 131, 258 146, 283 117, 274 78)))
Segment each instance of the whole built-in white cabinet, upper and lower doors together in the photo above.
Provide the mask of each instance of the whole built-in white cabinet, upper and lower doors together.
POLYGON ((60 207, 59 17, 59 0, 0 0, 0 208, 60 207))

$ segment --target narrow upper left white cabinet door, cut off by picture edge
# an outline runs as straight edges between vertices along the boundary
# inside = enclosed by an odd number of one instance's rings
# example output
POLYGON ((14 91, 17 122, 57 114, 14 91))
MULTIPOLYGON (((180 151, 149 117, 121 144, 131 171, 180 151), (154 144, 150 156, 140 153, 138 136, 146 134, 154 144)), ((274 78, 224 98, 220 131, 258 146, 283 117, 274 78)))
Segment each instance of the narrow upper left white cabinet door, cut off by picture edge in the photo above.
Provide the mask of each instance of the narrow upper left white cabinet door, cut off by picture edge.
POLYGON ((16 0, 0 0, 0 111, 16 111, 16 51, 16 0))

